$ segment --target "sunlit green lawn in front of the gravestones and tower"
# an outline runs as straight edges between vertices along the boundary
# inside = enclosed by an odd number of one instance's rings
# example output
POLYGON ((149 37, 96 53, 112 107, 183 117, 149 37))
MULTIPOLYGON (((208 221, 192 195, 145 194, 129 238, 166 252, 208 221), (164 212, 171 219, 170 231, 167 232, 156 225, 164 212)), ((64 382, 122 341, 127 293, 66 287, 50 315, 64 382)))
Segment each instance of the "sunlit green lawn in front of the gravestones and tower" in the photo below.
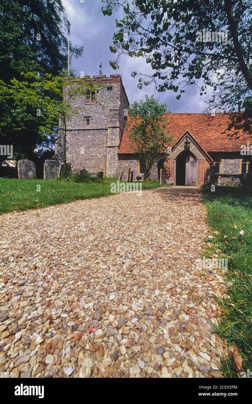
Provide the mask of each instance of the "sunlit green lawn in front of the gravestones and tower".
MULTIPOLYGON (((105 178, 103 183, 85 184, 69 180, 0 178, 0 214, 13 210, 45 208, 78 199, 109 196, 111 195, 110 184, 116 181, 117 179, 105 178)), ((142 189, 153 189, 160 186, 158 182, 142 182, 142 189)))

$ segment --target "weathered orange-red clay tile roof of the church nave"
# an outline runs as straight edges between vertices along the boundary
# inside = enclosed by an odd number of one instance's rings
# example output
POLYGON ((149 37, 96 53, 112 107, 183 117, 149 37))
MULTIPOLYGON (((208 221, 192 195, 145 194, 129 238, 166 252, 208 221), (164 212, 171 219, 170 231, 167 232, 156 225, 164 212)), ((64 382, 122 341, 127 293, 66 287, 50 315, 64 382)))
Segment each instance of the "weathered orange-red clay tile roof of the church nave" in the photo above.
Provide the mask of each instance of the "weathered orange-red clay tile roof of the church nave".
MULTIPOLYGON (((173 136, 175 143, 188 130, 197 142, 207 152, 211 151, 240 151, 240 146, 251 141, 250 136, 241 133, 240 139, 235 140, 225 134, 229 122, 229 115, 218 113, 214 117, 209 114, 166 114, 172 119, 168 124, 167 129, 170 131, 168 136, 173 136), (220 126, 219 126, 220 125, 220 126)), ((132 153, 132 145, 129 136, 128 128, 130 127, 130 117, 127 117, 127 124, 124 128, 122 140, 118 149, 118 154, 132 153)), ((231 132, 229 132, 231 133, 231 132)), ((172 143, 172 144, 173 144, 172 143)))

